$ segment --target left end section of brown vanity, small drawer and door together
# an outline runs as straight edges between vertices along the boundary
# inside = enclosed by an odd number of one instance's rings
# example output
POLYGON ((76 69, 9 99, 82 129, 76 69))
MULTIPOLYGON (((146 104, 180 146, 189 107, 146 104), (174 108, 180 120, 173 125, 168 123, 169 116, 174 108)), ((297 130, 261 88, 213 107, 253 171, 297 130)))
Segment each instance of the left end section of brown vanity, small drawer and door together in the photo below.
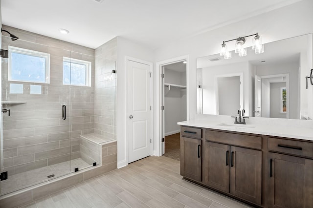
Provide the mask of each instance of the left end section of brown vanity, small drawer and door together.
POLYGON ((201 182, 202 129, 181 127, 180 175, 201 182))

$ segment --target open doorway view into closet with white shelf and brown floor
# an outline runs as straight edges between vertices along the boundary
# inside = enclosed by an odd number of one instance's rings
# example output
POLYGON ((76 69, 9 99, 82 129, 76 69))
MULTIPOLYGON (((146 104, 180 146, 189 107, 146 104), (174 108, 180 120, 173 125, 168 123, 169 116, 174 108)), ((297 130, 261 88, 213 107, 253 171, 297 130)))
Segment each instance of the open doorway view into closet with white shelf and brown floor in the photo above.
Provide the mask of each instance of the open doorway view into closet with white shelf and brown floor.
POLYGON ((162 66, 163 156, 180 160, 180 126, 187 120, 186 61, 162 66))

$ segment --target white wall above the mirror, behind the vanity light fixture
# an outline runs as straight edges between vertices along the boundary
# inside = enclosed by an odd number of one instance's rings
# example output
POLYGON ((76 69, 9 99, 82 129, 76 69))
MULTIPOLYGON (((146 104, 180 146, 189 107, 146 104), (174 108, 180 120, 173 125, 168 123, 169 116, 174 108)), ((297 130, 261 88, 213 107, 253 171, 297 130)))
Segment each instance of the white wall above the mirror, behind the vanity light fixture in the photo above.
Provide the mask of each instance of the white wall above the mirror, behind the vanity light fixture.
MULTIPOLYGON (((190 119, 197 114, 196 59, 217 54, 224 40, 258 32, 263 42, 273 42, 313 32, 313 0, 294 4, 261 14, 244 21, 232 23, 189 39, 173 42, 156 50, 156 62, 189 55, 190 119)), ((188 26, 188 25, 186 25, 188 26)), ((246 42, 247 46, 252 43, 246 42)), ((230 48, 233 50, 234 48, 230 48)), ((265 49, 266 50, 266 49, 265 49)), ((313 96, 313 95, 311 95, 313 96)), ((313 99, 312 99, 313 101, 313 99)))

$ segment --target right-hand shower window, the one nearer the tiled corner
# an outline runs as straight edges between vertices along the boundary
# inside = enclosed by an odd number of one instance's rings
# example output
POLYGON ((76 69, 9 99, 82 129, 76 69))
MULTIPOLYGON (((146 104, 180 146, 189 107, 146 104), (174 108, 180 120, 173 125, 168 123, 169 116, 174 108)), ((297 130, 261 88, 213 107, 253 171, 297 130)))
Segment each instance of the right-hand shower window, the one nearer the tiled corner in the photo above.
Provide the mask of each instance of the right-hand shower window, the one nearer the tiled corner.
POLYGON ((91 86, 91 62, 64 57, 63 84, 91 86))

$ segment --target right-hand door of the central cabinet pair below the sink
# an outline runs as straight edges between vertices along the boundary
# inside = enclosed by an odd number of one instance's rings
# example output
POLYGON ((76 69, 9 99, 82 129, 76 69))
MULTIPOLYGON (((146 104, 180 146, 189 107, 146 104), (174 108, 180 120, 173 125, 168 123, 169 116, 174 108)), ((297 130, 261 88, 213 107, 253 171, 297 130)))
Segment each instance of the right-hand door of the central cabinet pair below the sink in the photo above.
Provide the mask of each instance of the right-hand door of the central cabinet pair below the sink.
POLYGON ((262 151, 230 147, 230 193, 261 205, 262 151))

